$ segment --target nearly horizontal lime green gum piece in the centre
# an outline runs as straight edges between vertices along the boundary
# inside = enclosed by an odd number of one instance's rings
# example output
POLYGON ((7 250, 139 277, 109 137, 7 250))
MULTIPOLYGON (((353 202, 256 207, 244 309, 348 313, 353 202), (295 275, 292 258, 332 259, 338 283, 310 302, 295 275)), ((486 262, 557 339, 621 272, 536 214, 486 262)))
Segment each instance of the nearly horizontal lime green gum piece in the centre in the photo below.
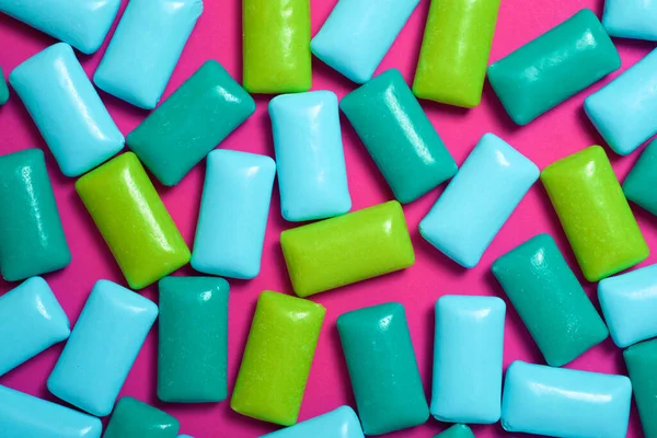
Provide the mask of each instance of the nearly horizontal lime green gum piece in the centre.
POLYGON ((299 297, 415 263, 404 211, 396 200, 286 230, 280 233, 280 245, 299 297))

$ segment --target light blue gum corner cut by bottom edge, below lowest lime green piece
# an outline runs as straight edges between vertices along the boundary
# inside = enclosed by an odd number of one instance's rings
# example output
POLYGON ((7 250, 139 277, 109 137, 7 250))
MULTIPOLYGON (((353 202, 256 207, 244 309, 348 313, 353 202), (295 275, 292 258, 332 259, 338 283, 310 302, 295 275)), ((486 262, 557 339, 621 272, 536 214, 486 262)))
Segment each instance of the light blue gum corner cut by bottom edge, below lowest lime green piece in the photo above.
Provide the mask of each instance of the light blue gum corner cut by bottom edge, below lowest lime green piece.
POLYGON ((364 438, 360 420, 349 406, 339 406, 326 414, 307 419, 261 438, 364 438))

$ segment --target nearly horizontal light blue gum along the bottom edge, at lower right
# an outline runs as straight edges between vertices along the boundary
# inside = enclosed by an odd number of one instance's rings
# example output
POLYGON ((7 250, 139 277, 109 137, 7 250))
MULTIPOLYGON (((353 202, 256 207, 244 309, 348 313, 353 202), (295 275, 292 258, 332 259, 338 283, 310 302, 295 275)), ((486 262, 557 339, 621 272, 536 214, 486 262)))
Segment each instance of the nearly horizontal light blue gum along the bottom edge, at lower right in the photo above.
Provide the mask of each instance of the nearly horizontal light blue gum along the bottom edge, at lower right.
POLYGON ((632 384, 625 376, 512 362, 506 374, 502 427, 562 438, 624 438, 632 384))

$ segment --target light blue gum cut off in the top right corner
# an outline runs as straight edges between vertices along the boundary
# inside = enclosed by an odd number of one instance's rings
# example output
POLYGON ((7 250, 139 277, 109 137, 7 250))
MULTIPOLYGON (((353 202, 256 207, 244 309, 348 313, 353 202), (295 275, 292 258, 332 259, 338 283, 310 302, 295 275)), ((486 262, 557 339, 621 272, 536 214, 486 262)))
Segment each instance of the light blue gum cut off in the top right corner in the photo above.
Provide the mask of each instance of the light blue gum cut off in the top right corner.
POLYGON ((611 36, 657 41, 657 0, 606 0, 602 25, 611 36))

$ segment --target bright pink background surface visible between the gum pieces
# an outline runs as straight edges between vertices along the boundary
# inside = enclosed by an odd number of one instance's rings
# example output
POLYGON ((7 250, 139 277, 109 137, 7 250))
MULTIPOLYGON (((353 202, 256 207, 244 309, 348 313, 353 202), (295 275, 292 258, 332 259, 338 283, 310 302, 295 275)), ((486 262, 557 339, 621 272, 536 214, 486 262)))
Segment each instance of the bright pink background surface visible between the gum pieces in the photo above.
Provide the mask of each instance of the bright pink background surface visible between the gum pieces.
MULTIPOLYGON (((123 0, 122 7, 125 7, 126 2, 123 0)), ((240 0, 206 0, 205 3, 205 12, 181 57, 164 97, 171 94, 208 58, 217 59, 233 77, 238 80, 241 78, 241 2, 240 0)), ((319 31, 335 3, 336 0, 311 0, 313 35, 319 31)), ((600 16, 602 3, 602 0, 503 0, 491 60, 494 61, 507 55, 581 8, 591 8, 600 16)), ((428 7, 429 0, 420 1, 419 7, 381 64, 379 71, 395 67, 402 71, 408 82, 412 81, 428 7)), ((4 69, 5 76, 27 57, 53 43, 55 43, 53 38, 0 15, 0 66, 4 69)), ((616 39, 615 43, 623 60, 621 70, 633 65, 654 47, 653 44, 643 42, 616 39)), ((104 47, 94 56, 80 56, 89 76, 92 76, 103 53, 104 47)), ((342 97, 355 88, 354 83, 316 59, 313 59, 313 72, 314 90, 333 90, 338 97, 342 97)), ((511 123, 488 84, 484 90, 482 104, 474 110, 465 111, 431 102, 423 102, 423 106, 459 164, 463 162, 480 137, 491 131, 506 139, 543 169, 553 161, 590 145, 603 145, 602 139, 584 114, 581 105, 586 95, 598 90, 616 74, 618 72, 611 74, 522 128, 511 123)), ((126 135, 147 115, 147 112, 105 93, 101 93, 101 95, 119 128, 126 135)), ((255 99, 257 102, 255 115, 231 135, 221 147, 273 155, 270 124, 266 113, 269 96, 256 96, 255 99)), ((33 147, 47 151, 42 137, 15 94, 12 94, 7 105, 0 107, 0 132, 1 153, 33 147)), ((392 199, 392 194, 376 165, 344 118, 343 138, 354 209, 392 199)), ((631 157, 620 158, 609 150, 608 153, 621 180, 638 155, 635 152, 631 157)), ((122 285, 125 285, 125 279, 78 198, 73 189, 74 180, 67 178, 60 173, 49 152, 46 152, 46 161, 73 260, 70 266, 64 270, 46 275, 45 278, 55 290, 71 322, 74 322, 97 279, 112 279, 122 285)), ((204 172, 205 164, 200 164, 176 187, 157 186, 189 245, 193 244, 194 239, 204 172)), ((417 232, 419 220, 429 210, 442 188, 433 191, 419 200, 404 207, 417 255, 415 266, 404 272, 321 293, 313 298, 326 307, 327 313, 308 381, 300 419, 320 415, 343 404, 355 406, 335 327, 336 318, 346 311, 393 300, 404 303, 425 391, 429 396, 434 337, 433 307, 438 297, 446 293, 496 295, 506 299, 489 273, 491 264, 499 255, 540 232, 549 232, 556 239, 570 266, 584 281, 540 183, 529 192, 493 241, 479 266, 473 269, 463 269, 447 260, 426 243, 417 232)), ((280 231, 289 228, 291 223, 281 218, 279 206, 278 191, 275 188, 261 275, 251 281, 230 280, 229 387, 231 389, 238 373, 258 293, 264 289, 291 293, 278 244, 280 231)), ((656 219, 635 206, 633 209, 648 244, 654 247, 657 245, 656 219)), ((117 214, 120 212, 117 211, 117 214)), ((655 263, 655 261, 656 257, 650 256, 643 265, 655 263)), ((195 273, 187 266, 181 269, 180 274, 194 275, 195 273)), ((0 281, 0 291, 4 292, 15 286, 15 284, 0 281)), ((587 284, 586 289, 597 304, 595 286, 587 284)), ((145 289, 142 293, 157 300, 154 287, 145 289)), ((132 395, 165 410, 181 420, 181 433, 193 435, 196 438, 255 437, 276 429, 273 425, 233 413, 228 401, 200 405, 159 403, 155 397, 157 336, 157 330, 151 331, 122 395, 132 395)), ((61 347, 62 345, 58 345, 38 355, 0 378, 0 383, 55 400, 47 392, 45 382, 61 347)), ((505 338, 505 368, 516 359, 543 362, 517 313, 509 307, 505 338)), ((568 367, 625 373, 621 350, 612 344, 611 339, 595 347, 568 367)), ((423 426, 389 436, 391 438, 433 437, 443 428, 445 425, 429 419, 423 426)), ((505 435, 498 424, 476 426, 473 429, 477 437, 505 435)), ((641 426, 634 407, 627 436, 641 436, 641 426)))

